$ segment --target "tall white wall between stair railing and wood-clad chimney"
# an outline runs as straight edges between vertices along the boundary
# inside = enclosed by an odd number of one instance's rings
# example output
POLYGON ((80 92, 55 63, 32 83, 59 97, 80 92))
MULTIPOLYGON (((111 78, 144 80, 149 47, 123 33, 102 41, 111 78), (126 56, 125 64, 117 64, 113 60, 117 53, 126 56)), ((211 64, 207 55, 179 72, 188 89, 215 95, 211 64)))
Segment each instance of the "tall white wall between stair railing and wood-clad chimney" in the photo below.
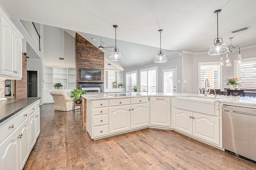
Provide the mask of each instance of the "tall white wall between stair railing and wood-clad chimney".
POLYGON ((43 65, 75 67, 75 39, 61 28, 44 25, 43 65), (59 57, 64 58, 60 60, 59 57))

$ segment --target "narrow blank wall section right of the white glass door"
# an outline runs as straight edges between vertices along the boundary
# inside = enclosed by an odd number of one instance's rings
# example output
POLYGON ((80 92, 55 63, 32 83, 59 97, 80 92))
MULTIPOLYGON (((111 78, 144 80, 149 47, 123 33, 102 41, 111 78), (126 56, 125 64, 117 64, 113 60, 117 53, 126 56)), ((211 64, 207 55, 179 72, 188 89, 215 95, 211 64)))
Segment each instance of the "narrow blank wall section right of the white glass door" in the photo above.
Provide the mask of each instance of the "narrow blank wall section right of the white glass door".
POLYGON ((182 92, 193 93, 193 55, 182 53, 182 92), (186 82, 186 83, 185 83, 186 82))

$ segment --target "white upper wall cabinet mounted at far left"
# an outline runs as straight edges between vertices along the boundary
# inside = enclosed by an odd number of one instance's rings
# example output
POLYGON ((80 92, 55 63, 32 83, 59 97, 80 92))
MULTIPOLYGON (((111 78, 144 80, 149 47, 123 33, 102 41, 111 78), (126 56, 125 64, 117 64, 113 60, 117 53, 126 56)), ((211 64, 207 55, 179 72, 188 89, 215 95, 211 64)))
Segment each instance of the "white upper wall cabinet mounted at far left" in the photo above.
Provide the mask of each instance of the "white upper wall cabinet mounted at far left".
POLYGON ((22 77, 22 34, 0 9, 1 45, 0 77, 21 79, 22 77))

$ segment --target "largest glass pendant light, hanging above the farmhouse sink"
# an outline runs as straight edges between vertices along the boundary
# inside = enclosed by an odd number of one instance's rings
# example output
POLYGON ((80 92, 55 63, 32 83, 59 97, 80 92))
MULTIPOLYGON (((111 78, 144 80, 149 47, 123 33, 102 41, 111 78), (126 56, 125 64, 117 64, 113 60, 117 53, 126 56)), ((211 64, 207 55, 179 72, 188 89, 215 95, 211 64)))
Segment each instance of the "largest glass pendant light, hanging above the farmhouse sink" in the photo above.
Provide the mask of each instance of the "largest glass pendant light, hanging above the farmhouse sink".
POLYGON ((226 43, 223 43, 222 38, 219 38, 219 33, 218 33, 218 14, 221 12, 221 10, 216 10, 214 11, 214 14, 217 14, 217 38, 214 39, 214 42, 216 40, 216 43, 214 43, 211 47, 210 50, 208 51, 209 55, 220 55, 228 52, 228 47, 226 43), (220 42, 220 40, 222 42, 220 42))

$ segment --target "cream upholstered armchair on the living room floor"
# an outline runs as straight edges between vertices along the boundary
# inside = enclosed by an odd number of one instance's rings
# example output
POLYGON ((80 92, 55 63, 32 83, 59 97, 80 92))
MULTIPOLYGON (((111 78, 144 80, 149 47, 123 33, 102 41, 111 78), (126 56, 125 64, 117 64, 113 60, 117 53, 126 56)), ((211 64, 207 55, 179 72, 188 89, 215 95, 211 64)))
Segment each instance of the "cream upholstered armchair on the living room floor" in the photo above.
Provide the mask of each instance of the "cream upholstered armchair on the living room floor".
POLYGON ((73 110, 73 99, 68 97, 67 93, 62 90, 54 90, 50 92, 54 100, 55 111, 72 111, 73 110))

